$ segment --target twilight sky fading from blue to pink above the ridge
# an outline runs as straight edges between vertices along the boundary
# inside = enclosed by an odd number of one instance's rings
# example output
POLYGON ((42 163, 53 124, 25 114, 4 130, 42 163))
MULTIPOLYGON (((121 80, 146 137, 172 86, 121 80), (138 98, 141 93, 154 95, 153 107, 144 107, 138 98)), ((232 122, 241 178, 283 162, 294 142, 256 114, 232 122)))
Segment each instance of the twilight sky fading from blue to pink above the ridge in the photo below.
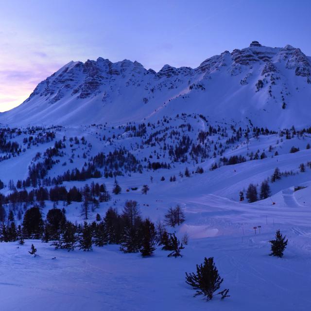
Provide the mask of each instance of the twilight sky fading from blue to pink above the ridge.
POLYGON ((310 0, 0 0, 0 111, 70 60, 197 67, 252 40, 311 55, 310 0))

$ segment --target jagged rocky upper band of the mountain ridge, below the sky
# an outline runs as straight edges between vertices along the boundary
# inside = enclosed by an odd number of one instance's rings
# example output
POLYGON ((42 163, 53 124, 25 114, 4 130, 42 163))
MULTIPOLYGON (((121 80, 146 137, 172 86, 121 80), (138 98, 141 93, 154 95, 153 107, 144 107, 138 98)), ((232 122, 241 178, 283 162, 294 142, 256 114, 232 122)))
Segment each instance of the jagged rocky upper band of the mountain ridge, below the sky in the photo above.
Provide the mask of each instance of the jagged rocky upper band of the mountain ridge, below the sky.
POLYGON ((195 69, 164 65, 155 72, 153 69, 146 70, 137 61, 124 59, 112 63, 102 57, 85 63, 70 62, 39 83, 26 102, 44 98, 44 102, 56 104, 64 97, 84 100, 100 95, 102 102, 112 103, 116 96, 127 92, 125 87, 135 87, 135 92, 140 92, 141 98, 147 99, 143 102, 149 104, 155 94, 165 89, 171 93, 179 88, 187 89, 187 92, 208 89, 208 80, 213 79, 214 73, 222 70, 228 76, 241 75, 239 85, 245 86, 252 79, 254 68, 259 70, 256 81, 269 75, 270 79, 267 81, 270 81, 270 85, 275 85, 276 80, 281 79, 279 68, 294 70, 296 76, 307 77, 307 82, 311 82, 310 60, 300 49, 290 45, 270 48, 252 41, 245 49, 235 49, 231 53, 225 51, 209 57, 195 69), (277 76, 274 74, 276 72, 277 76), (202 80, 201 83, 200 79, 206 81, 202 80))

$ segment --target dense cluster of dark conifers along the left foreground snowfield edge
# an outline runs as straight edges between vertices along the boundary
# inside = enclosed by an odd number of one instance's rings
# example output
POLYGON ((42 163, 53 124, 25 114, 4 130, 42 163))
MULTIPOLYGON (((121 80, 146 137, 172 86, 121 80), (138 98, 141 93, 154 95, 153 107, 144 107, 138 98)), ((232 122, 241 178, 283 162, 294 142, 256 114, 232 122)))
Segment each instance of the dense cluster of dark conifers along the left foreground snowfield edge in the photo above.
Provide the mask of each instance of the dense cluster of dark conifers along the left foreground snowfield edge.
POLYGON ((14 221, 10 225, 2 225, 0 241, 17 241, 24 239, 42 239, 52 242, 55 249, 74 250, 76 247, 84 251, 92 250, 92 245, 120 244, 124 253, 138 253, 143 257, 151 256, 156 245, 169 250, 168 257, 182 256, 183 245, 174 234, 169 234, 163 225, 155 226, 148 218, 143 220, 136 201, 126 201, 122 213, 110 207, 104 218, 99 214, 97 221, 90 224, 75 225, 67 221, 65 209, 50 209, 46 220, 43 220, 39 207, 26 210, 22 225, 16 227, 14 221))

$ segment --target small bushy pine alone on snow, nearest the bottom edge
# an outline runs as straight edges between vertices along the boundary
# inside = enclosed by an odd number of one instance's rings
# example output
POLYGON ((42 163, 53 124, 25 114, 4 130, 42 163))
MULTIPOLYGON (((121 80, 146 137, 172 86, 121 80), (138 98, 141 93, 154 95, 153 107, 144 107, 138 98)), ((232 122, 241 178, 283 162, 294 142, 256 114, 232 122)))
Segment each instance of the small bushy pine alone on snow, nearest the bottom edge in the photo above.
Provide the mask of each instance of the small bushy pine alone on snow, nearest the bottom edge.
MULTIPOLYGON (((214 293, 219 290, 223 281, 224 279, 220 277, 213 257, 205 258, 203 264, 196 265, 196 273, 188 274, 186 272, 186 283, 196 290, 194 297, 204 295, 207 301, 213 298, 214 293)), ((216 295, 221 294, 222 299, 224 299, 229 297, 228 292, 229 290, 225 289, 216 295)))

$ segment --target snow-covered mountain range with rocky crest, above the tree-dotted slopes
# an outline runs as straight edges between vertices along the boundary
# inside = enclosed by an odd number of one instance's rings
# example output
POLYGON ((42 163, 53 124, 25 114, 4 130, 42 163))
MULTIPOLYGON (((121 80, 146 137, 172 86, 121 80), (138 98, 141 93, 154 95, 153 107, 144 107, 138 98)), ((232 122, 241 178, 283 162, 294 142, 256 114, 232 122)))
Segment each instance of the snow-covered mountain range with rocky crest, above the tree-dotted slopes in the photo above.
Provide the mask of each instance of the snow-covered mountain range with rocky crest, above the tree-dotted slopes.
POLYGON ((195 69, 137 61, 69 62, 35 88, 17 108, 0 114, 7 124, 122 124, 181 113, 211 120, 283 127, 310 125, 311 57, 290 45, 253 41, 195 69))

